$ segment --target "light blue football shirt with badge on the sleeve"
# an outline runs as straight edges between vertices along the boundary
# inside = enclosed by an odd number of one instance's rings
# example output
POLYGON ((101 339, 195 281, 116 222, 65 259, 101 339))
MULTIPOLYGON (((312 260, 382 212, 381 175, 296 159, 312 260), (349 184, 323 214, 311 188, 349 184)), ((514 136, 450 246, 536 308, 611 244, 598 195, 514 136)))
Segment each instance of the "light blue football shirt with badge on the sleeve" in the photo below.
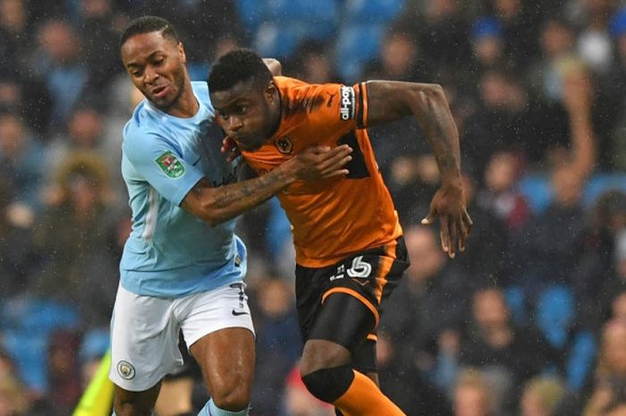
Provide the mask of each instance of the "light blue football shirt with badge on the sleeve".
POLYGON ((210 226, 180 208, 202 177, 213 186, 236 180, 236 166, 220 152, 222 133, 207 83, 191 84, 196 115, 167 115, 144 100, 123 130, 132 232, 120 273, 132 293, 178 297, 239 282, 246 273, 246 249, 233 233, 234 220, 210 226))

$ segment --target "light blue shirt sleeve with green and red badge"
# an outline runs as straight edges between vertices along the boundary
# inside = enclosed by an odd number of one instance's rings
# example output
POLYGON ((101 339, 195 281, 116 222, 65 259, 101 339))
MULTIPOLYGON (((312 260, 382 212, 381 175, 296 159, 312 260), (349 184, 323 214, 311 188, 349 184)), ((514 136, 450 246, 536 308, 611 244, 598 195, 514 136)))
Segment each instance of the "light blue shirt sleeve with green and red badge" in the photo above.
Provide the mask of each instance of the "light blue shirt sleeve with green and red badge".
POLYGON ((132 167, 166 200, 180 206, 190 189, 204 176, 180 151, 156 133, 137 133, 123 141, 132 167))

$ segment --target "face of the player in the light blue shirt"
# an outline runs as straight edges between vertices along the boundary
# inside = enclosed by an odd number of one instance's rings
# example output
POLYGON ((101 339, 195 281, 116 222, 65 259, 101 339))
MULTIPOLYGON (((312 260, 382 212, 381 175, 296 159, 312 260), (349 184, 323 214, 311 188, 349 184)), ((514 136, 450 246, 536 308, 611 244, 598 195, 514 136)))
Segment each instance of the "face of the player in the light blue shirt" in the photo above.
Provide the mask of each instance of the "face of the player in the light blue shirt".
POLYGON ((181 43, 159 32, 135 35, 123 44, 122 61, 132 83, 158 109, 167 111, 181 97, 187 77, 181 43))

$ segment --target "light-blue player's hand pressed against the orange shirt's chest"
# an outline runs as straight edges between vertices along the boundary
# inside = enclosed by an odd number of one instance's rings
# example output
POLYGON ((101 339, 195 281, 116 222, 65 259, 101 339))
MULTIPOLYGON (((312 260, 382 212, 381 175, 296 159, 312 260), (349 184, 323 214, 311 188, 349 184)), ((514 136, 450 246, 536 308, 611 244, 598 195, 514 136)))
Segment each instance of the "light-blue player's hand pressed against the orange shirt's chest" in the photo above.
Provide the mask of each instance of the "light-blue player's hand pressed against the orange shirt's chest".
POLYGON ((351 153, 352 148, 348 145, 334 149, 328 146, 313 146, 304 149, 289 162, 294 165, 298 179, 315 181, 348 174, 345 164, 352 160, 351 153))

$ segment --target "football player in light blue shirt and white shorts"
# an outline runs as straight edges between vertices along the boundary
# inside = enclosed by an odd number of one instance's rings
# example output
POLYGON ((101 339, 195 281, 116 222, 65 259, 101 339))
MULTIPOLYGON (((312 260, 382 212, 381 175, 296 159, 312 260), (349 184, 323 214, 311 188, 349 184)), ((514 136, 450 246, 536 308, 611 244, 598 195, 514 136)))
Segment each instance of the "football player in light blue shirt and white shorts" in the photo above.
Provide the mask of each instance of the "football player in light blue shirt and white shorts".
POLYGON ((236 166, 220 152, 207 84, 190 81, 171 24, 154 16, 131 21, 120 50, 147 99, 123 132, 132 232, 112 318, 114 414, 152 414, 161 379, 182 364, 182 330, 212 397, 199 414, 246 415, 254 329, 243 284, 246 249, 233 233, 234 218, 295 181, 346 174, 351 149, 311 148, 236 183, 236 166))

